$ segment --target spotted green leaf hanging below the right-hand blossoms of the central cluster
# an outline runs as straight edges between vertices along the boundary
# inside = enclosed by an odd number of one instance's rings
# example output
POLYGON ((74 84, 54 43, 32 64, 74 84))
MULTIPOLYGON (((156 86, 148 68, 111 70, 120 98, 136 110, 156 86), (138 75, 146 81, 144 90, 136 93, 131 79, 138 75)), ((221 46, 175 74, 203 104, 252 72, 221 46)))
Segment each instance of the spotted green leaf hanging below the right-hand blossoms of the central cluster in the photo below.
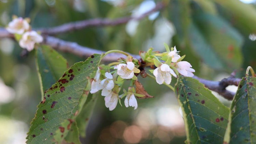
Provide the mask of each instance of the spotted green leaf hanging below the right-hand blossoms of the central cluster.
POLYGON ((175 95, 182 107, 188 143, 223 143, 228 108, 198 80, 179 76, 175 95))

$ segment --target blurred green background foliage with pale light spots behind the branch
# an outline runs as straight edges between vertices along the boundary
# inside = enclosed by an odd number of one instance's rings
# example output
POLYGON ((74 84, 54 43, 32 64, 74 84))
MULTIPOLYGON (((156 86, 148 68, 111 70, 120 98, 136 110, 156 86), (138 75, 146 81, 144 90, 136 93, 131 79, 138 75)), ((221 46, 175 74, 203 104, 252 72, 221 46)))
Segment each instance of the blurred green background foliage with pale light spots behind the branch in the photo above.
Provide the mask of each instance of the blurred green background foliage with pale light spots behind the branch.
MULTIPOLYGON (((0 0, 0 26, 5 27, 12 15, 30 17, 33 28, 138 16, 158 2, 166 3, 165 8, 140 21, 55 36, 95 49, 132 54, 149 47, 163 52, 165 42, 186 55, 184 60, 191 63, 197 76, 209 80, 221 80, 234 70, 241 77, 247 66, 256 67, 255 0, 0 0)), ((26 57, 21 53, 13 40, 0 39, 0 143, 25 143, 41 101, 34 51, 26 57)), ((85 60, 59 53, 69 66, 85 60)), ((174 93, 149 78, 139 79, 155 98, 139 99, 135 111, 118 105, 111 112, 103 97, 98 98, 83 143, 184 143, 184 124, 174 93)), ((236 91, 236 87, 228 88, 236 91)))

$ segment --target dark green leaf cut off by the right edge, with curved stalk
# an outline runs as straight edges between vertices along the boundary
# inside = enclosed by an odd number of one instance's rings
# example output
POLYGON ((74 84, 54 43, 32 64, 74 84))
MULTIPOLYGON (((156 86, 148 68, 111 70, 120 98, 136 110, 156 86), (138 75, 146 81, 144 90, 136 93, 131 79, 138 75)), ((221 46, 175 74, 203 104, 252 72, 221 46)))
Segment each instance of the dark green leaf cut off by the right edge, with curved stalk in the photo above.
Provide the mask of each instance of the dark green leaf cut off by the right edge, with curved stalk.
POLYGON ((256 143, 256 78, 246 76, 239 83, 230 106, 226 143, 256 143))

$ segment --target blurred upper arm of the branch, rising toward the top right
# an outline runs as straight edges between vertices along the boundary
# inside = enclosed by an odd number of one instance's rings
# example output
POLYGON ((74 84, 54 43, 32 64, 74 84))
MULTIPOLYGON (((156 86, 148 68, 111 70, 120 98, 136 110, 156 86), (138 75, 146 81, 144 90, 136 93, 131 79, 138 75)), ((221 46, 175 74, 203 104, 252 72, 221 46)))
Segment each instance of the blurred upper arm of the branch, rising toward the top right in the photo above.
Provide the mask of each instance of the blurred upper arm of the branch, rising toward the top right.
POLYGON ((38 29, 42 32, 42 34, 48 34, 48 35, 54 35, 58 33, 64 33, 68 31, 73 31, 73 30, 80 30, 86 27, 99 27, 99 26, 115 26, 115 25, 120 25, 120 24, 125 24, 129 20, 134 19, 134 20, 140 20, 156 11, 161 10, 164 7, 163 3, 157 3, 156 7, 138 17, 122 17, 122 18, 117 18, 117 19, 106 19, 106 18, 96 18, 96 19, 89 19, 89 20, 82 20, 82 21, 76 21, 76 22, 71 22, 67 24, 63 24, 60 26, 52 27, 52 28, 42 28, 38 29))

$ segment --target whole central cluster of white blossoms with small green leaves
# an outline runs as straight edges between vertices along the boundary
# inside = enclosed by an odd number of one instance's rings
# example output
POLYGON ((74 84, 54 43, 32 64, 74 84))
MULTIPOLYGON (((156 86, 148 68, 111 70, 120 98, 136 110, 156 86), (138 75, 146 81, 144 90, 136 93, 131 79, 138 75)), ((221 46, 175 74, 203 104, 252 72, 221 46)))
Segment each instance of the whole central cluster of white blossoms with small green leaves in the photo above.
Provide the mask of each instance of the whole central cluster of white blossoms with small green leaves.
POLYGON ((165 47, 166 52, 164 53, 153 51, 153 48, 150 48, 147 52, 141 51, 141 61, 127 54, 126 59, 120 58, 117 62, 112 62, 108 65, 100 65, 91 82, 90 93, 96 93, 101 90, 101 96, 105 97, 105 106, 108 107, 110 111, 115 109, 118 102, 122 105, 120 100, 124 97, 125 106, 132 106, 135 110, 138 107, 136 97, 152 97, 148 95, 142 84, 137 80, 139 73, 141 73, 142 77, 149 75, 145 72, 145 67, 150 66, 153 69, 149 71, 154 74, 158 84, 165 83, 169 85, 172 76, 177 77, 178 74, 190 77, 194 76, 193 72, 195 72, 195 70, 191 68, 190 63, 182 61, 185 55, 180 56, 176 47, 171 48, 171 50, 166 44, 165 47), (124 81, 126 80, 131 81, 128 91, 123 89, 123 94, 119 95, 124 81))

